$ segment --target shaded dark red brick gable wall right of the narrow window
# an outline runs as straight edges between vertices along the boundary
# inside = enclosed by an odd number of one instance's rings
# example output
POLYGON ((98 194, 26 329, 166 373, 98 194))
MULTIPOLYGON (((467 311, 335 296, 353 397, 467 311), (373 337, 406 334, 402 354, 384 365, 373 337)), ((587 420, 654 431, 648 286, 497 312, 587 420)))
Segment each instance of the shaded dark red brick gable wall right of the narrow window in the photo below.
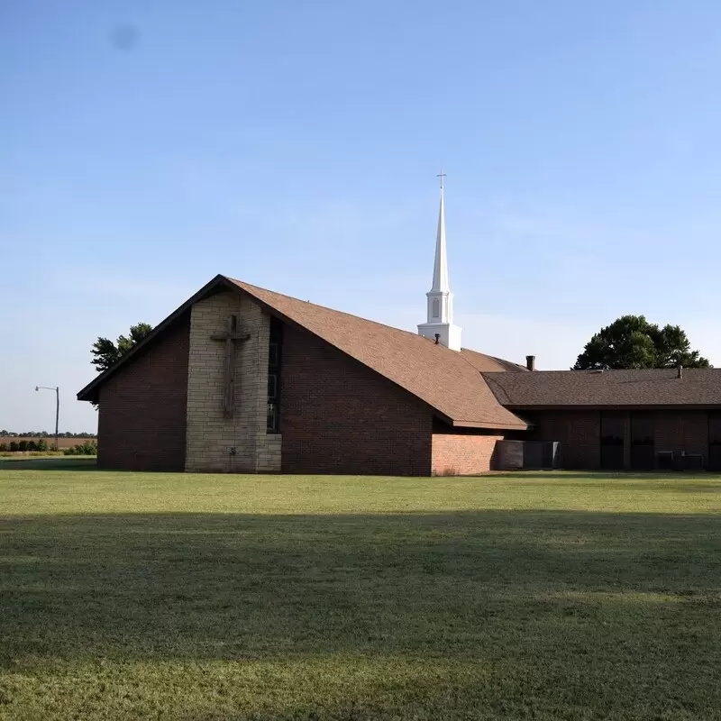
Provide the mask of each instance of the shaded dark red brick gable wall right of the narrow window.
POLYGON ((290 325, 282 368, 284 472, 430 474, 432 413, 421 401, 290 325))

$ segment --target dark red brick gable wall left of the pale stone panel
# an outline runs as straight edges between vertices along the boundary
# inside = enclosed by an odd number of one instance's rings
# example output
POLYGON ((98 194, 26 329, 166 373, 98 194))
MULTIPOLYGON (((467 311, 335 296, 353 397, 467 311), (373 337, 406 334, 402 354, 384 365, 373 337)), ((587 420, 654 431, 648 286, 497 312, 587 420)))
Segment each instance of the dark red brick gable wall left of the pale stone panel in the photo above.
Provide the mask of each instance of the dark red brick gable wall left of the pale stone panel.
POLYGON ((99 468, 183 470, 188 317, 100 387, 99 468))

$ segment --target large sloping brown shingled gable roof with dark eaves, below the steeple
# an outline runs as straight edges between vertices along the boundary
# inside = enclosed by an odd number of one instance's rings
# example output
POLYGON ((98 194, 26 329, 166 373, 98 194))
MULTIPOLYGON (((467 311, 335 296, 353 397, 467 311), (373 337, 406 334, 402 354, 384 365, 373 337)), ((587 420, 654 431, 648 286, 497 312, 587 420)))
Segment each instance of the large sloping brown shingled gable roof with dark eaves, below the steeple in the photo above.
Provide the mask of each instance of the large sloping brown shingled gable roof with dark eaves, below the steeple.
MULTIPOLYGON (((525 370, 522 367, 475 351, 451 351, 415 333, 316 306, 225 276, 216 276, 189 298, 113 368, 83 388, 78 393, 78 399, 96 400, 99 386, 125 363, 131 362, 132 357, 152 343, 179 315, 198 300, 225 288, 253 297, 272 315, 331 343, 420 398, 452 425, 521 430, 527 427, 524 421, 498 403, 480 372, 525 370)), ((519 372, 518 375, 529 373, 519 372)))

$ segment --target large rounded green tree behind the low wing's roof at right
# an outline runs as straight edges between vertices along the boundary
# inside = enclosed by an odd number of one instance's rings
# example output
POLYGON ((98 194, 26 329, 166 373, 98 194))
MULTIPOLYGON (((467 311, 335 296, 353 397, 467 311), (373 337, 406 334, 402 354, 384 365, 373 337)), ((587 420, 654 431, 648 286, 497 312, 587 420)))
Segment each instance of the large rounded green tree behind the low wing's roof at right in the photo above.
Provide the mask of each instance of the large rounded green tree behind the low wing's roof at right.
POLYGON ((629 368, 709 368, 698 351, 691 351, 679 325, 649 323, 643 315, 622 315, 594 333, 573 370, 629 368))

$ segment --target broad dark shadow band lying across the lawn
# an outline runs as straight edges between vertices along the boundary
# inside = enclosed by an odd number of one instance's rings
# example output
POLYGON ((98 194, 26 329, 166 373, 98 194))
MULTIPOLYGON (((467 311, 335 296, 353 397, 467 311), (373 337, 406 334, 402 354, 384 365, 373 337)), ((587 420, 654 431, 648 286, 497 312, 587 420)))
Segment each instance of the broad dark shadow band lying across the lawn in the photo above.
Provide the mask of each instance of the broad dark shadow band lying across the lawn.
POLYGON ((571 618, 604 653, 633 629, 678 654, 671 629, 698 626, 695 665, 721 649, 719 552, 721 520, 698 515, 6 518, 0 663, 502 657, 556 648, 571 618))

